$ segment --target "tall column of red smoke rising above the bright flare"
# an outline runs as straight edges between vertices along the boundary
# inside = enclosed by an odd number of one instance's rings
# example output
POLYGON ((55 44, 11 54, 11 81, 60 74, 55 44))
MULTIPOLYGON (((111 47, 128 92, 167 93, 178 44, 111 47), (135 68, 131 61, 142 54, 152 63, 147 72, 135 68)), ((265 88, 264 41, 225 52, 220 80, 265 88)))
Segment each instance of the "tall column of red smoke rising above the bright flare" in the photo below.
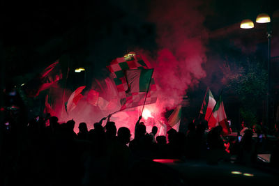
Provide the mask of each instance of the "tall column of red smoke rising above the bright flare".
POLYGON ((158 51, 149 54, 160 91, 160 109, 181 103, 189 86, 206 76, 207 34, 199 1, 155 1, 149 20, 156 24, 158 51))

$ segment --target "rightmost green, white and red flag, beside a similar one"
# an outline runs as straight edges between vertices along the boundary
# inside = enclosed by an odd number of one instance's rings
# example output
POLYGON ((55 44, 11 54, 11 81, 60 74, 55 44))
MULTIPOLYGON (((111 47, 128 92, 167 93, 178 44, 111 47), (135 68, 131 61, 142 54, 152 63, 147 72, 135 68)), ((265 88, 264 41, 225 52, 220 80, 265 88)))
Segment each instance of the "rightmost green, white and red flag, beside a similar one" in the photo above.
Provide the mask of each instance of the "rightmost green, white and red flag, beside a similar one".
MULTIPOLYGON (((211 116, 212 117, 212 116, 211 116)), ((227 122, 227 116, 224 109, 224 103, 222 94, 220 95, 220 98, 218 102, 216 103, 216 106, 213 110, 213 117, 216 119, 216 127, 217 125, 220 125, 223 127, 224 134, 230 134, 231 130, 229 128, 229 123, 227 122)))

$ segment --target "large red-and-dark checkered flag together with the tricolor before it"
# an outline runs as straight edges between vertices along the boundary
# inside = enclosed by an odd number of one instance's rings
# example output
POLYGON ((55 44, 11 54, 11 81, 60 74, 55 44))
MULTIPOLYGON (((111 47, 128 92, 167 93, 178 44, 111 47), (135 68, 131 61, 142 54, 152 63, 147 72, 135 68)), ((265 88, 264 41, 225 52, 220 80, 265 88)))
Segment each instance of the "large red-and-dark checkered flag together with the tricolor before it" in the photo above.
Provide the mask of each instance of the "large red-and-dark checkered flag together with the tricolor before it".
POLYGON ((129 55, 114 59, 107 68, 112 72, 119 93, 120 110, 144 104, 147 91, 145 104, 156 102, 156 84, 151 77, 153 70, 147 67, 140 56, 129 55))

